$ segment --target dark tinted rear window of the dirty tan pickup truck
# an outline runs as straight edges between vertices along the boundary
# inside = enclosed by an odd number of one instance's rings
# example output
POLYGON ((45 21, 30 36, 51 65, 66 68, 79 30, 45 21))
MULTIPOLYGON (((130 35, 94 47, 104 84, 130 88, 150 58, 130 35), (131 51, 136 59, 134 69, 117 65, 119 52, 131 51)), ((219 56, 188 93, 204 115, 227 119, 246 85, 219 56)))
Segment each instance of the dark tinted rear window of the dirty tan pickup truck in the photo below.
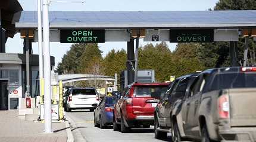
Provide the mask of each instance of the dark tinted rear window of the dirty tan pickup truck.
POLYGON ((211 90, 256 88, 256 73, 224 73, 216 75, 211 90))

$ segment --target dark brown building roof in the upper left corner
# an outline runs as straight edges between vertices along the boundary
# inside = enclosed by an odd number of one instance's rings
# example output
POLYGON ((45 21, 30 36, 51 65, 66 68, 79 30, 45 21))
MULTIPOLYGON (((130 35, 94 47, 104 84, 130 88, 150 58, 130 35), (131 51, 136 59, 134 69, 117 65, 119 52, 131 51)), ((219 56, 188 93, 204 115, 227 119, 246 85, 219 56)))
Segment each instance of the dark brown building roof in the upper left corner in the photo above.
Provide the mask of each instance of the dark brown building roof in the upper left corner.
MULTIPOLYGON (((13 37, 16 33, 15 25, 12 23, 13 16, 18 11, 22 11, 22 7, 17 0, 0 1, 1 9, 1 26, 6 30, 5 36, 13 37)), ((18 15, 16 15, 18 17, 18 15)))

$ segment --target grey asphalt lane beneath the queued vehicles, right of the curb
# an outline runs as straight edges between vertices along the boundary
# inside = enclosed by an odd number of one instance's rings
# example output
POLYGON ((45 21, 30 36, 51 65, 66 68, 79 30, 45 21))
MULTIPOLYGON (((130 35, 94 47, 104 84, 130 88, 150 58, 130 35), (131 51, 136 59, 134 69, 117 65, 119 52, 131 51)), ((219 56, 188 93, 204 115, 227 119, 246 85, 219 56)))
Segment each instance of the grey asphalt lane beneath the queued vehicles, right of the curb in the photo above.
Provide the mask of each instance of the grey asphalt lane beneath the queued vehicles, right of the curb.
POLYGON ((93 125, 93 112, 86 110, 76 110, 66 112, 67 120, 70 121, 71 131, 74 135, 74 141, 86 142, 151 142, 151 141, 171 141, 171 136, 168 134, 166 140, 158 140, 154 137, 154 128, 148 129, 132 129, 129 133, 123 134, 120 131, 113 131, 113 127, 105 129, 95 128, 93 125))

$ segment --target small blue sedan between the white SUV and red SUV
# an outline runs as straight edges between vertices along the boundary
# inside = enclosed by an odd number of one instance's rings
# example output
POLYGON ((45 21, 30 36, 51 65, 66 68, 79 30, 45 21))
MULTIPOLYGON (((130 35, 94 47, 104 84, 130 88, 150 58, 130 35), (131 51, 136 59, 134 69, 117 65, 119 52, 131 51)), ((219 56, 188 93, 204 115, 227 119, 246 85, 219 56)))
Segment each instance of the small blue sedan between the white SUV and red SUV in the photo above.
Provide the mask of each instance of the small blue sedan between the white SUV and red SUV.
POLYGON ((116 96, 106 96, 94 111, 94 126, 104 128, 113 124, 113 107, 117 102, 116 96))

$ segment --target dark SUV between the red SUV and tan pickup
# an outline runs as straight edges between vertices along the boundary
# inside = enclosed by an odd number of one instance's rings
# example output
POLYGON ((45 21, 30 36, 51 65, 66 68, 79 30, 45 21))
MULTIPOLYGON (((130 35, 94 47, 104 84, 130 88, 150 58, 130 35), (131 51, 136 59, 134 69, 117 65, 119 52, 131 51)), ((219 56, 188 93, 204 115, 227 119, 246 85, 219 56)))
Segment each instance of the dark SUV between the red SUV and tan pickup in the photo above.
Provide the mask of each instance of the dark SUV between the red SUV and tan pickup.
POLYGON ((155 138, 166 138, 167 133, 171 132, 171 111, 175 102, 185 96, 188 86, 198 75, 185 75, 174 80, 167 88, 164 96, 155 108, 154 130, 155 138))

